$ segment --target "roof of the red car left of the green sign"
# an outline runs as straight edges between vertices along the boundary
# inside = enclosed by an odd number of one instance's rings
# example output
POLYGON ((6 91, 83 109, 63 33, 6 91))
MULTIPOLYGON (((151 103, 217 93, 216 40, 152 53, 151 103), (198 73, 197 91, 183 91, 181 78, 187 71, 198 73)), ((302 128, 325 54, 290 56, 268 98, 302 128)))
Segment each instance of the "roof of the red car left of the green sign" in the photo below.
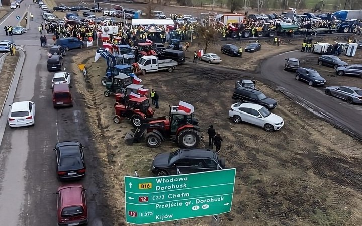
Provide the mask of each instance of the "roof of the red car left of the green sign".
POLYGON ((83 205, 81 192, 83 187, 81 185, 67 185, 58 188, 61 194, 62 207, 83 205))

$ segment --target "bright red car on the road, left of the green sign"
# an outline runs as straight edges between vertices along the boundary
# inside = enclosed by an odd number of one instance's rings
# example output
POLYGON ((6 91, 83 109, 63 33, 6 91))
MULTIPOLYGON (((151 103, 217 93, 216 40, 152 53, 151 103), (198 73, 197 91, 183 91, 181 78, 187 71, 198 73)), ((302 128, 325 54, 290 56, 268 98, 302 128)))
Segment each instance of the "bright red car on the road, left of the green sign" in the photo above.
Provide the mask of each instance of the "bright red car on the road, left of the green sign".
POLYGON ((58 225, 74 226, 88 223, 85 191, 86 189, 78 184, 58 188, 58 225))

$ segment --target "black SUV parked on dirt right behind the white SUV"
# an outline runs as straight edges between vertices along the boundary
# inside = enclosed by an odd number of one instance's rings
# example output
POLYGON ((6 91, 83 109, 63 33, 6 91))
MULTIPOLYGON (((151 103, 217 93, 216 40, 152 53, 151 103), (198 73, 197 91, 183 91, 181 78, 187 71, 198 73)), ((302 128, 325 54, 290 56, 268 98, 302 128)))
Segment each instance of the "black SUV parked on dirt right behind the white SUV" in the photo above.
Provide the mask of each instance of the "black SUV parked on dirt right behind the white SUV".
POLYGON ((253 88, 239 87, 234 90, 232 98, 246 103, 256 103, 269 110, 276 108, 278 105, 276 100, 266 97, 264 93, 253 88))

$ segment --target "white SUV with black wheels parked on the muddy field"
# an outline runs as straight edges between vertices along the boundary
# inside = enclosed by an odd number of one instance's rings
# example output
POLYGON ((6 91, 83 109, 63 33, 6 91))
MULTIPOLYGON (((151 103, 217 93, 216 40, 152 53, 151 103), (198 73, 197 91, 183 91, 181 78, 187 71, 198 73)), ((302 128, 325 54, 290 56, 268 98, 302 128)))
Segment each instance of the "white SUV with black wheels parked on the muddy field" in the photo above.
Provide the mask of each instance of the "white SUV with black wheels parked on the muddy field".
POLYGON ((284 125, 282 117, 254 103, 234 103, 229 110, 229 117, 234 123, 254 124, 267 132, 280 130, 284 125))

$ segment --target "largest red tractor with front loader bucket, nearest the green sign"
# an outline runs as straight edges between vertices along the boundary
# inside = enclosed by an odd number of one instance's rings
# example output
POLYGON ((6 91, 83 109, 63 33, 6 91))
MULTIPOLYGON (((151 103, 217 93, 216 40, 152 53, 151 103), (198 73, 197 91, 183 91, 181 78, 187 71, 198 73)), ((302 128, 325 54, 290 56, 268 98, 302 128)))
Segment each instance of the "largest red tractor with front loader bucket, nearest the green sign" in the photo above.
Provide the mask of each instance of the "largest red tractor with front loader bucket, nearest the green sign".
POLYGON ((157 148, 162 141, 170 140, 182 148, 195 148, 200 143, 199 120, 193 117, 194 110, 185 112, 179 106, 170 106, 169 116, 143 120, 141 126, 129 131, 124 140, 128 145, 140 142, 144 137, 150 148, 157 148))

